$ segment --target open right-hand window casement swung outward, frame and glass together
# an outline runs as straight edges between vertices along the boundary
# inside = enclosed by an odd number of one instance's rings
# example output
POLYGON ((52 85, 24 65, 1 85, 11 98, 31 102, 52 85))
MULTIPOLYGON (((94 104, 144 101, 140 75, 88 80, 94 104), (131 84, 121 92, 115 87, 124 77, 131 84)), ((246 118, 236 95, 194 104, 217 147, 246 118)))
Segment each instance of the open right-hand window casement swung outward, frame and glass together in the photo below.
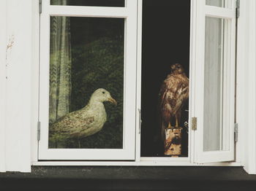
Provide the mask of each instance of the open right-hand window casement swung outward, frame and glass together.
POLYGON ((236 1, 197 1, 195 162, 235 159, 236 1))

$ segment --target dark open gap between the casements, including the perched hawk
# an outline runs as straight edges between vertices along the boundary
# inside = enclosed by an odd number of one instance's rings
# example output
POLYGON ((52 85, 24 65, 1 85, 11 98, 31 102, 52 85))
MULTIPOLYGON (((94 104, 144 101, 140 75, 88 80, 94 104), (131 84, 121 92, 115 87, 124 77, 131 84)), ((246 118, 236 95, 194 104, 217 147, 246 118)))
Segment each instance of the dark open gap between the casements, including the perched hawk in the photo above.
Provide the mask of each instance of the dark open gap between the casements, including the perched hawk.
POLYGON ((143 1, 140 96, 143 160, 189 157, 190 4, 189 0, 143 1), (179 74, 174 74, 176 64, 182 67, 179 74), (178 109, 174 109, 176 106, 178 109), (177 144, 170 144, 171 141, 177 144))

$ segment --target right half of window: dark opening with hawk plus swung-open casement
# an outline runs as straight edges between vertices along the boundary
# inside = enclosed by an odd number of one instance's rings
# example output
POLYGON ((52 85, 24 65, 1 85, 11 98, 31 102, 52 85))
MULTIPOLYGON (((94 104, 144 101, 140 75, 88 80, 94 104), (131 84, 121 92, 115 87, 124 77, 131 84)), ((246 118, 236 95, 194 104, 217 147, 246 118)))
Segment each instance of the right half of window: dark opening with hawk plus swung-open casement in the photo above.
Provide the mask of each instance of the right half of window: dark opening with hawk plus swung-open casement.
POLYGON ((142 20, 142 159, 234 161, 236 1, 143 1, 142 20))

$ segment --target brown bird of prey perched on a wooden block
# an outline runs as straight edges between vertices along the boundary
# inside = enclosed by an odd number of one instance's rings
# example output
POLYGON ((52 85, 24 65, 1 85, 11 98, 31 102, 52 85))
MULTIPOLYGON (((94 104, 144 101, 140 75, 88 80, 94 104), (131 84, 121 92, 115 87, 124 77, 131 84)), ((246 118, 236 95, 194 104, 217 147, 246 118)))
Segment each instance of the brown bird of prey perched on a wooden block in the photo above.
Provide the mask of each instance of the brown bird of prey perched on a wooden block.
POLYGON ((181 110, 184 102, 189 98, 189 79, 179 63, 170 66, 170 74, 162 83, 159 93, 159 109, 162 125, 162 139, 165 140, 165 129, 179 128, 181 110))

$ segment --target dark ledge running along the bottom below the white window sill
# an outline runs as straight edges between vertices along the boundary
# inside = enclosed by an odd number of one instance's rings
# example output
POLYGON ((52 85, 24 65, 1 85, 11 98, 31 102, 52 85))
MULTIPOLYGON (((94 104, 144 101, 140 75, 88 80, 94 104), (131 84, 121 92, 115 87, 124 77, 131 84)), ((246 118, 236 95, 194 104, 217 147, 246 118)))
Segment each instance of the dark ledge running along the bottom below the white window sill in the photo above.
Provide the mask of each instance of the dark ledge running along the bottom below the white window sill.
POLYGON ((0 173, 0 190, 256 190, 241 167, 35 166, 0 173))

